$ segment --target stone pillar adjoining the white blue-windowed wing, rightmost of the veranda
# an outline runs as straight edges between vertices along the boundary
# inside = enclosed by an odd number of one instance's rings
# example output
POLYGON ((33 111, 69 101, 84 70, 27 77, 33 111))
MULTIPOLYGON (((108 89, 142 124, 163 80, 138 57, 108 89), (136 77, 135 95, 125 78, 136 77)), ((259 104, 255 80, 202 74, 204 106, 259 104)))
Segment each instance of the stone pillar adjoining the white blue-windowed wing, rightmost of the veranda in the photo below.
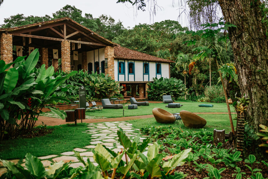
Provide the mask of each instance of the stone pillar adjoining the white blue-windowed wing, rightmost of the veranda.
POLYGON ((104 49, 104 58, 107 58, 107 69, 105 73, 115 79, 115 61, 114 61, 114 48, 112 46, 106 46, 104 49))

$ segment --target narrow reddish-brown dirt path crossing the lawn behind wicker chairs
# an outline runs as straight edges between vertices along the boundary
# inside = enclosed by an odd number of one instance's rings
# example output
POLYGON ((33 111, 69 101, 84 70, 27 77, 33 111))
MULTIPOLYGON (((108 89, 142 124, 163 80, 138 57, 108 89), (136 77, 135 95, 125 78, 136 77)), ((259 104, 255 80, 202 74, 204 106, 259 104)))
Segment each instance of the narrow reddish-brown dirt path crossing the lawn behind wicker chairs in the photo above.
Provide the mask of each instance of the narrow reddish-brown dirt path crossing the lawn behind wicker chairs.
MULTIPOLYGON (((228 114, 227 112, 196 112, 195 114, 228 114)), ((236 114, 236 113, 232 113, 236 114)), ((116 117, 116 118, 103 118, 103 119, 83 119, 82 122, 85 123, 97 123, 97 122, 112 122, 112 121, 128 121, 128 120, 136 120, 136 119, 146 119, 153 117, 153 114, 143 115, 143 116, 126 116, 126 117, 116 117)), ((54 118, 54 117, 46 117, 46 116, 39 116, 38 121, 35 125, 42 125, 47 124, 48 126, 57 126, 61 124, 74 124, 74 122, 65 122, 65 120, 54 118)), ((78 120, 78 123, 81 121, 78 120)))

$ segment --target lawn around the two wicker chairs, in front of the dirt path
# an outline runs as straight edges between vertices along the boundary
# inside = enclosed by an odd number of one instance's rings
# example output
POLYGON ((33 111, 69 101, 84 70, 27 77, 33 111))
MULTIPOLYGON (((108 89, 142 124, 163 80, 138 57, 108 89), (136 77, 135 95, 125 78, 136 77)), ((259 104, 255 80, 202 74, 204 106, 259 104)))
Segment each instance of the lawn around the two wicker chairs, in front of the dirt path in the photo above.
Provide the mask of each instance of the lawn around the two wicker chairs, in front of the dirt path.
MULTIPOLYGON (((213 131, 214 129, 222 130, 225 129, 225 133, 231 131, 229 115, 228 114, 198 114, 198 116, 203 117, 206 119, 207 123, 204 129, 213 131)), ((232 118, 236 117, 235 114, 232 114, 232 118)), ((129 123, 133 124, 135 128, 142 128, 146 125, 150 126, 172 126, 172 127, 181 127, 182 130, 194 130, 198 131, 199 129, 189 129, 185 127, 181 122, 179 125, 177 123, 172 124, 161 124, 155 121, 155 118, 148 118, 148 119, 138 119, 138 120, 130 120, 129 123)), ((236 121, 233 120, 234 128, 236 128, 236 121)))

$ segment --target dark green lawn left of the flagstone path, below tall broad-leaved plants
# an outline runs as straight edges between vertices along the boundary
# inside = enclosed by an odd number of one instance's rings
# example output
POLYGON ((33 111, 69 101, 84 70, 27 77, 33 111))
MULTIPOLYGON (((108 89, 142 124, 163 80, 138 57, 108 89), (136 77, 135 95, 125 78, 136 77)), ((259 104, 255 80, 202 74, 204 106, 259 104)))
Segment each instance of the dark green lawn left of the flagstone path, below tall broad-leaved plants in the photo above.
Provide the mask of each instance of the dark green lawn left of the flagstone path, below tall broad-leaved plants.
POLYGON ((0 144, 0 159, 22 159, 29 152, 36 157, 72 151, 76 147, 90 144, 86 123, 47 126, 54 129, 51 134, 27 139, 10 139, 0 144))

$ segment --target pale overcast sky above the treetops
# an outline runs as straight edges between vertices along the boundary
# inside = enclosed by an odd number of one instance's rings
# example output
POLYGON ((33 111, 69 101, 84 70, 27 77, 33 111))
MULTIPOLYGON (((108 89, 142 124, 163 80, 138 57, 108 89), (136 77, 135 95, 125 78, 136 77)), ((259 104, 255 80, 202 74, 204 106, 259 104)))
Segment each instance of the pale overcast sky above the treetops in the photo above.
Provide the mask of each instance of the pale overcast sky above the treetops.
MULTIPOLYGON (((117 0, 4 0, 0 6, 0 24, 4 23, 4 18, 11 15, 24 14, 25 16, 52 16, 52 13, 60 10, 66 4, 75 6, 82 10, 82 15, 90 13, 93 17, 99 17, 101 14, 107 14, 113 17, 116 21, 123 22, 124 27, 134 27, 139 23, 161 22, 166 19, 177 20, 179 10, 178 1, 173 4, 173 0, 158 0, 158 4, 162 5, 162 10, 158 8, 156 16, 151 17, 148 11, 138 11, 129 3, 117 4, 117 0)), ((181 21, 180 21, 181 22, 181 21)), ((185 22, 181 24, 186 26, 185 22)))

